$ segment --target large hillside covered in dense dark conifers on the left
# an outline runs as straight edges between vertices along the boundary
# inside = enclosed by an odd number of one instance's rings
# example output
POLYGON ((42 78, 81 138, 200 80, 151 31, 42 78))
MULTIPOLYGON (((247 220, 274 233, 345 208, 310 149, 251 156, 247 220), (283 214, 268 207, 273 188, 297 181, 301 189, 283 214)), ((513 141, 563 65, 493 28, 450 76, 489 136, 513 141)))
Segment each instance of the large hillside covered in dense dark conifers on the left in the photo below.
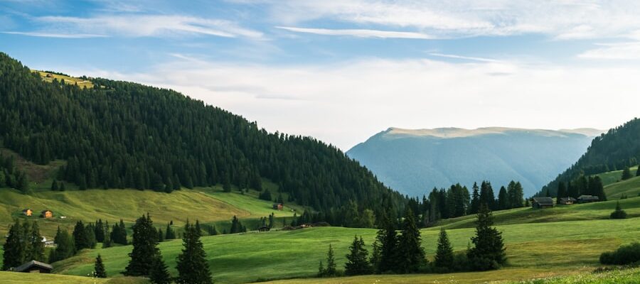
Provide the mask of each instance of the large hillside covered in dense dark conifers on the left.
POLYGON ((353 212, 371 209, 382 217, 406 202, 358 162, 314 138, 267 133, 169 89, 90 80, 92 89, 44 82, 0 53, 2 145, 34 163, 67 160, 58 179, 81 190, 171 192, 215 184, 260 190, 267 178, 289 193, 289 201, 320 212, 318 219, 347 226, 364 222, 353 212))

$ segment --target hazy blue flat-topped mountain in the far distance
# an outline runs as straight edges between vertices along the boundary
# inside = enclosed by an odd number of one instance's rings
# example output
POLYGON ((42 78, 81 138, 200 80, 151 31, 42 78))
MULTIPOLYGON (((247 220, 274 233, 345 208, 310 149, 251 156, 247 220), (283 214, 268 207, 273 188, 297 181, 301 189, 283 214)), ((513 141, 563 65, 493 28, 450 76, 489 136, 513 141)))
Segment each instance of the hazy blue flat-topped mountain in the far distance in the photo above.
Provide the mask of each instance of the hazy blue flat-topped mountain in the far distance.
POLYGON ((528 196, 585 153, 599 133, 596 129, 390 128, 354 146, 347 155, 386 185, 410 196, 481 180, 491 181, 494 190, 519 180, 528 196))

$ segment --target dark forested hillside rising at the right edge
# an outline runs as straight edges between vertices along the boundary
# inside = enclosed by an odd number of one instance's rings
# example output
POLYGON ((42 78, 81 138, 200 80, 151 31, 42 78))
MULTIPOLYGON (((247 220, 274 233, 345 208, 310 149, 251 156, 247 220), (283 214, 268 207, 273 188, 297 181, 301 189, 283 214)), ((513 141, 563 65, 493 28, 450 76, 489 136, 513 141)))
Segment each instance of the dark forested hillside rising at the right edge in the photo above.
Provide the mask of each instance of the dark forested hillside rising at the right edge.
POLYGON ((638 160, 640 160, 640 119, 636 118, 594 138, 587 153, 558 175, 558 178, 545 185, 540 193, 549 191, 555 196, 560 181, 570 182, 577 180, 581 175, 623 170, 638 165, 638 160))

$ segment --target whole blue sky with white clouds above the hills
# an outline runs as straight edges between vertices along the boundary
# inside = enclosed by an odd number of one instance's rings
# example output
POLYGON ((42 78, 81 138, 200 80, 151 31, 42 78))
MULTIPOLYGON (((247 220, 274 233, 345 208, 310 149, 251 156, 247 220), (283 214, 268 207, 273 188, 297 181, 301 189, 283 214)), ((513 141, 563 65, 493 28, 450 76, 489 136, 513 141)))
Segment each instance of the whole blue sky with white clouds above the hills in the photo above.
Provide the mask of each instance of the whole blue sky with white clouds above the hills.
POLYGON ((389 127, 639 114, 640 1, 0 0, 0 51, 168 87, 347 151, 389 127))

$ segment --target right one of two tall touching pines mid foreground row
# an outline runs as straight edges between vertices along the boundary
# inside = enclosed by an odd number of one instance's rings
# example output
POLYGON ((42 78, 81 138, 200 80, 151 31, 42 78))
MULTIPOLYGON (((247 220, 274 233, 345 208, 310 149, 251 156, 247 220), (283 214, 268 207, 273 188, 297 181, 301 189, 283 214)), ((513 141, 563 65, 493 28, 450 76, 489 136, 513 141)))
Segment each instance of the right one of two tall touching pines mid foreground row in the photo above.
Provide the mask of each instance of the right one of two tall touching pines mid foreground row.
POLYGON ((400 273, 416 273, 425 264, 425 251, 420 246, 420 230, 415 224, 411 208, 407 208, 402 221, 402 235, 398 239, 398 264, 400 273))

